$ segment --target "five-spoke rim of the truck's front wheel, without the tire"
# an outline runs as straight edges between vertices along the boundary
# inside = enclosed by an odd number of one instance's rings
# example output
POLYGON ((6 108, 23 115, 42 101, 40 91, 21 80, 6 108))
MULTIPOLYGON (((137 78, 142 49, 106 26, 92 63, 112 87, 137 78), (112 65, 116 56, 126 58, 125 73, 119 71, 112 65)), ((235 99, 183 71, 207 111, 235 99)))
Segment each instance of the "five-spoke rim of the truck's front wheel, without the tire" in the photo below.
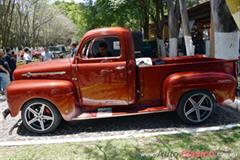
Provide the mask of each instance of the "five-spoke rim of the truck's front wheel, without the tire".
POLYGON ((44 103, 29 105, 24 113, 24 118, 29 127, 41 132, 51 128, 54 123, 54 114, 44 103))

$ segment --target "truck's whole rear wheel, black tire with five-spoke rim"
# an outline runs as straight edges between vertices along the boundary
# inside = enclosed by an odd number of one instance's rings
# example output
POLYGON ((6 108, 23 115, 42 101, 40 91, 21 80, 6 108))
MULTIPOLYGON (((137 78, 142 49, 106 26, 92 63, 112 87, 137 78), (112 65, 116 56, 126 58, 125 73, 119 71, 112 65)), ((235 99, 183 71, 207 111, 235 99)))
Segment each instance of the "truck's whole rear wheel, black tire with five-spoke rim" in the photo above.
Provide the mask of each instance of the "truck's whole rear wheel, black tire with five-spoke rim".
POLYGON ((215 106, 216 102, 211 93, 205 90, 194 90, 182 96, 177 114, 185 123, 201 124, 212 116, 215 106))

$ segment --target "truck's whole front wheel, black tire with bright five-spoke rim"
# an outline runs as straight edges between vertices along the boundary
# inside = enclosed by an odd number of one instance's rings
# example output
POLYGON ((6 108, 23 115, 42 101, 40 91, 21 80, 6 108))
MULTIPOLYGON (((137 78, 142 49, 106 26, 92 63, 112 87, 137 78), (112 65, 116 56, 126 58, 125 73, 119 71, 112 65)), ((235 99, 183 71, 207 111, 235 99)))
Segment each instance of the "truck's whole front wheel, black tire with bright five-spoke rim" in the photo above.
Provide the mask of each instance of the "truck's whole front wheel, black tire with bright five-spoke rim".
POLYGON ((54 131, 61 123, 62 116, 56 107, 42 99, 34 99, 22 107, 23 125, 33 133, 45 134, 54 131))

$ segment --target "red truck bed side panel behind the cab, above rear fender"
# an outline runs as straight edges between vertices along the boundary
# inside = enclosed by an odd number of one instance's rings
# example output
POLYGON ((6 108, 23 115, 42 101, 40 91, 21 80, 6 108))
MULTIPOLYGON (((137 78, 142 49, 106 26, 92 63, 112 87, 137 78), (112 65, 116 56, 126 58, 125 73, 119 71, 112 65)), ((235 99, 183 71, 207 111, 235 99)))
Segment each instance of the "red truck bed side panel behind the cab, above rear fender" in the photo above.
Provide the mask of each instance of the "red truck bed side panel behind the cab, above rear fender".
POLYGON ((139 66, 138 86, 140 103, 163 104, 164 80, 178 72, 220 72, 233 75, 236 78, 236 60, 222 60, 203 56, 154 59, 152 66, 139 66), (159 63, 160 62, 160 63, 159 63))

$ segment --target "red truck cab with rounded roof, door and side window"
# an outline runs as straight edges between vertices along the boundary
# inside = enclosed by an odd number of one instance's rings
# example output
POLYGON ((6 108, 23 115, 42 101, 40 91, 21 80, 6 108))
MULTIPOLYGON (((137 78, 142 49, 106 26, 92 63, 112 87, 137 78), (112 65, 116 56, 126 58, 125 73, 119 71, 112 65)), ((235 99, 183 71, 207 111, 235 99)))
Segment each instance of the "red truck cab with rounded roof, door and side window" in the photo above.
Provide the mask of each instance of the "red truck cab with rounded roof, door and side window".
POLYGON ((123 28, 93 30, 84 36, 74 61, 84 109, 136 102, 133 52, 131 33, 123 28), (110 55, 98 55, 101 50, 110 55))

